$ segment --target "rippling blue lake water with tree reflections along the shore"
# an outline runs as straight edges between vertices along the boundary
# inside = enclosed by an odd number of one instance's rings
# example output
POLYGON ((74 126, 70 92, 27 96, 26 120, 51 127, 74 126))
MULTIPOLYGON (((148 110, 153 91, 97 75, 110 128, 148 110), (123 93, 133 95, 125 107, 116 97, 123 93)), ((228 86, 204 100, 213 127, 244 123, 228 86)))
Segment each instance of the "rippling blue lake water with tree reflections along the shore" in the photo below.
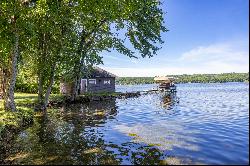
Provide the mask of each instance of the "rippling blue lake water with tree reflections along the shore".
POLYGON ((177 91, 51 109, 10 142, 4 161, 249 164, 249 84, 177 84, 177 91))

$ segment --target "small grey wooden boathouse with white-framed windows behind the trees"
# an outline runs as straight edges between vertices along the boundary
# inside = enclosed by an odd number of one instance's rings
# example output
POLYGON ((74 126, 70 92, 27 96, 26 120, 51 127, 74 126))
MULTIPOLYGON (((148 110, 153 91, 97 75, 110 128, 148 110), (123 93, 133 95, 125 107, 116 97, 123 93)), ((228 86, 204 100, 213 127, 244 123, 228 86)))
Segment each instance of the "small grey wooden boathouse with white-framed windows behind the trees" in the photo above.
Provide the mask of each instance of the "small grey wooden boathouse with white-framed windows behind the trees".
MULTIPOLYGON (((81 78, 79 92, 84 94, 86 92, 115 92, 115 78, 117 76, 101 69, 93 67, 89 72, 88 77, 81 78)), ((73 90, 73 83, 66 83, 61 81, 60 92, 62 94, 71 94, 73 90)))

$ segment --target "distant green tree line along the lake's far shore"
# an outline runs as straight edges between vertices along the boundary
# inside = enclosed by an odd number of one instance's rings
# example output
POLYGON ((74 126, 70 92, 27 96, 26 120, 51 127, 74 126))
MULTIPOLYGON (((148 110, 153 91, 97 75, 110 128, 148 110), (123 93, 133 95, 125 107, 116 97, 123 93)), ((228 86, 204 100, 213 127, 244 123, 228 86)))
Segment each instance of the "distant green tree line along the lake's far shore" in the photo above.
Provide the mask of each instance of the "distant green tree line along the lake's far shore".
MULTIPOLYGON (((223 73, 223 74, 183 74, 168 75, 177 78, 176 83, 223 83, 223 82, 249 82, 249 73, 223 73)), ((116 84, 153 84, 154 77, 119 77, 116 84)))

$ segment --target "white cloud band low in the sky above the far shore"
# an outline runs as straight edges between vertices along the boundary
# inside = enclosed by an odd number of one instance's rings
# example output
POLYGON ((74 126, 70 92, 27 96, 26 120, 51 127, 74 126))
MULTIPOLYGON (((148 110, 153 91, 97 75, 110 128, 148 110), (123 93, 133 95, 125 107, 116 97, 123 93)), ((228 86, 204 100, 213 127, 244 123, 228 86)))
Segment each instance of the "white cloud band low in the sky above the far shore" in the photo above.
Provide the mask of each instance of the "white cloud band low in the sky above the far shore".
MULTIPOLYGON (((157 76, 169 74, 202 74, 249 72, 249 47, 236 42, 198 46, 186 51, 172 63, 159 62, 145 67, 104 67, 118 76, 157 76), (157 67, 156 67, 157 66, 157 67)), ((139 64, 140 62, 137 61, 139 64)))

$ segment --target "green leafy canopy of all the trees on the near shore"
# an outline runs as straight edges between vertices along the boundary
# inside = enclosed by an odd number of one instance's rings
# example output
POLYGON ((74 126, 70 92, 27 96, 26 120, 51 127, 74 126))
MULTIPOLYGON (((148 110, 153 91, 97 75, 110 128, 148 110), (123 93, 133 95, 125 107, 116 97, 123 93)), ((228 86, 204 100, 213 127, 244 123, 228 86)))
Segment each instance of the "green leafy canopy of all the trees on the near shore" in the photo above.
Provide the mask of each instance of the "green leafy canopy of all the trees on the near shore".
POLYGON ((2 0, 0 64, 9 68, 15 31, 20 75, 33 77, 32 85, 38 78, 43 92, 53 75, 58 83, 66 73, 82 75, 83 68, 103 63, 103 51, 152 57, 167 31, 159 6, 158 0, 2 0))

